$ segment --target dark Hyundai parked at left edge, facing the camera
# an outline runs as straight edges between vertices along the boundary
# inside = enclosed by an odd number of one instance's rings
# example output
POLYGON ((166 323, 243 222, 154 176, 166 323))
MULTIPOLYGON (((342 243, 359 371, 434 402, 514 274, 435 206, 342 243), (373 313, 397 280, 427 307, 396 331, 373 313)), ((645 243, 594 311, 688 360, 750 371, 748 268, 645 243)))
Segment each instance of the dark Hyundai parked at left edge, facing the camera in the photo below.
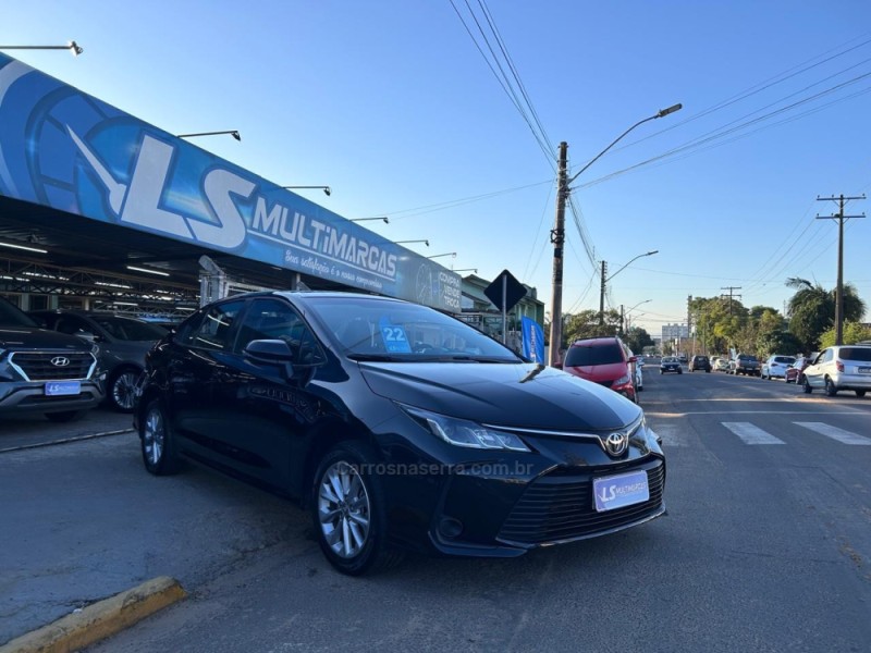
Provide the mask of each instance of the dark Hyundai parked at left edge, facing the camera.
POLYGON ((40 329, 0 297, 0 415, 76 419, 103 399, 98 347, 40 329))

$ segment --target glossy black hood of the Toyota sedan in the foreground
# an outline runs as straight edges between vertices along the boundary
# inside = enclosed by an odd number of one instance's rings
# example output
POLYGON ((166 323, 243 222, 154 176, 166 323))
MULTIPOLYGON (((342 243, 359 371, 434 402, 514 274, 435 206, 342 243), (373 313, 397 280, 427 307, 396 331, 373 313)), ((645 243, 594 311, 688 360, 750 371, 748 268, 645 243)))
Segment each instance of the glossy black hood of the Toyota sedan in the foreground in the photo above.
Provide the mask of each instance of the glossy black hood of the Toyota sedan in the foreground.
POLYGON ((554 431, 616 429, 641 410, 614 391, 535 364, 361 362, 376 394, 493 426, 554 431))

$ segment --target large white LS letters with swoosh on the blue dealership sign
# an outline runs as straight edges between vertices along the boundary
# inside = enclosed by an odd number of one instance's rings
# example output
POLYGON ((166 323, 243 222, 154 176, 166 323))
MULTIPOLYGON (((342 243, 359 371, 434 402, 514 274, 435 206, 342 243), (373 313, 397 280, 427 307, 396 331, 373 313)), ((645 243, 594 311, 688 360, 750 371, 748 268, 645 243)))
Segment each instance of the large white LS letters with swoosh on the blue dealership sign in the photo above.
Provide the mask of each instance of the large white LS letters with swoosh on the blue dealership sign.
POLYGON ((160 207, 175 151, 171 145, 145 134, 130 184, 123 184, 69 125, 66 131, 106 186, 109 206, 121 222, 223 249, 245 243, 245 221, 231 194, 249 198, 256 187, 254 182, 220 168, 206 173, 203 189, 218 223, 204 222, 160 207))

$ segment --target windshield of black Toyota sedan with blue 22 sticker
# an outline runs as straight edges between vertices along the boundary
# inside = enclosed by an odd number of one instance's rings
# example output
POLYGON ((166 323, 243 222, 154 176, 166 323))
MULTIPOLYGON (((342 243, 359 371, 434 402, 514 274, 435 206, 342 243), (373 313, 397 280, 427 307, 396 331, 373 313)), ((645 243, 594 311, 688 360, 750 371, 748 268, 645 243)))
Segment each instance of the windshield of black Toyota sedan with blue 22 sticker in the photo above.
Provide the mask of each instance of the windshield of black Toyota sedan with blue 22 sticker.
POLYGON ((379 297, 310 297, 308 303, 338 349, 355 360, 523 362, 480 331, 418 304, 379 297))

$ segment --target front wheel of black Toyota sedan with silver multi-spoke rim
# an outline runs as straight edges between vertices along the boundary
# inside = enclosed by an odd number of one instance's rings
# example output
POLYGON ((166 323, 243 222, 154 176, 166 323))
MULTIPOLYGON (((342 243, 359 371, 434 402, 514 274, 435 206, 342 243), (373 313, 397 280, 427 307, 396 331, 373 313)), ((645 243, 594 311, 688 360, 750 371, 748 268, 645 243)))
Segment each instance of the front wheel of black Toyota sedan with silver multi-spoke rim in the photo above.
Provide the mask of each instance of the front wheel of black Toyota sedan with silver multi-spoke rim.
POLYGON ((330 564, 348 576, 383 570, 402 557, 387 543, 385 494, 372 473, 377 461, 369 446, 346 441, 323 456, 315 473, 311 519, 318 544, 330 564))

